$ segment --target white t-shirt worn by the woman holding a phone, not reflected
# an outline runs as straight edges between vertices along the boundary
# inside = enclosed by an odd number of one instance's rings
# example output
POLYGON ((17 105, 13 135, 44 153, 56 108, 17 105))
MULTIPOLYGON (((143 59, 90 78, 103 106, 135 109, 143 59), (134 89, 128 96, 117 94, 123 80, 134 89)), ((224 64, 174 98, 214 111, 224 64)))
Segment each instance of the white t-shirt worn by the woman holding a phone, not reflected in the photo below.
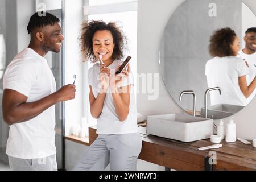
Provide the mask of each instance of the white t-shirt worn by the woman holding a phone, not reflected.
MULTIPOLYGON (((122 64, 122 61, 114 61, 108 66, 110 69, 110 76, 112 76, 118 66, 122 64)), ((93 96, 97 98, 100 90, 100 81, 98 81, 98 75, 100 73, 100 64, 94 64, 88 72, 89 85, 92 86, 93 96)), ((112 94, 110 93, 110 88, 108 89, 105 101, 103 105, 100 117, 97 119, 97 134, 127 134, 138 132, 137 126, 137 111, 135 104, 135 97, 133 92, 133 74, 130 73, 126 80, 123 80, 121 86, 131 85, 130 93, 130 110, 127 119, 120 122, 118 115, 115 112, 115 106, 112 94)))

